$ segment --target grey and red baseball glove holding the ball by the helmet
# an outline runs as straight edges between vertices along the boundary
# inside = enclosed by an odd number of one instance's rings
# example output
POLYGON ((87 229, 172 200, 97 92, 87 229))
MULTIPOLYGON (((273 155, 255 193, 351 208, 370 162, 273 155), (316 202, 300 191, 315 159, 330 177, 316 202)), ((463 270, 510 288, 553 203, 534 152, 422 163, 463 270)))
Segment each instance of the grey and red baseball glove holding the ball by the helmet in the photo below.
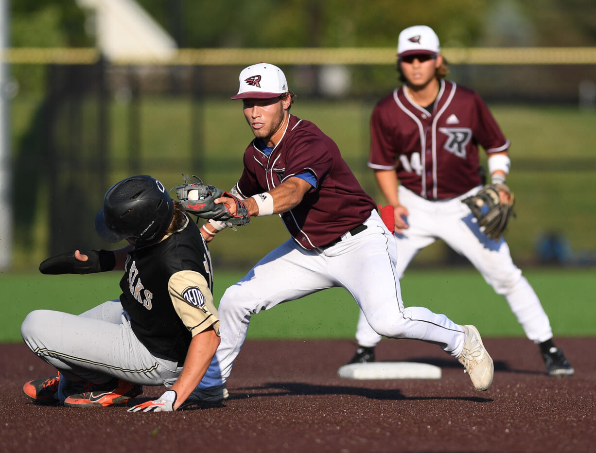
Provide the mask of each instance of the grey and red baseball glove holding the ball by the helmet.
POLYGON ((240 198, 218 189, 214 185, 205 185, 198 176, 184 176, 184 184, 173 187, 176 197, 185 211, 201 219, 221 221, 229 225, 246 225, 250 222, 249 210, 240 198), (187 181, 188 180, 190 181, 187 181), (230 212, 230 206, 225 203, 215 203, 220 197, 232 198, 235 203, 235 214, 230 212))

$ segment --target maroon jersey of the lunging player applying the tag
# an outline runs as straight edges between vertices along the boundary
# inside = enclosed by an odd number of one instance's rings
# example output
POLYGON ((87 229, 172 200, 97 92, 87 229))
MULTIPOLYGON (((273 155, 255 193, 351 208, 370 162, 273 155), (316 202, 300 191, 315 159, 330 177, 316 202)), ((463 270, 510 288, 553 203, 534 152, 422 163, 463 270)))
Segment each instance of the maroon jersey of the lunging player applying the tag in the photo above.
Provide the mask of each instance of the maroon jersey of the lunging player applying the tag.
POLYGON ((316 188, 280 214, 300 246, 314 249, 362 224, 375 209, 335 142, 313 123, 290 115, 280 142, 267 156, 254 139, 244 152, 244 172, 236 190, 244 198, 272 190, 286 179, 309 172, 316 188))

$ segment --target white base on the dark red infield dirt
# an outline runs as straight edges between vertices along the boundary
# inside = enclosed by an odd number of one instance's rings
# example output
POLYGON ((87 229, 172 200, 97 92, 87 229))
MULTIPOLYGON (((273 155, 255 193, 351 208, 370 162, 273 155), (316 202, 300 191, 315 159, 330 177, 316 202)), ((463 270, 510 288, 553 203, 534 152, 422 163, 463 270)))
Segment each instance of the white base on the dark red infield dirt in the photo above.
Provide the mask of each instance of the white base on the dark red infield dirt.
POLYGON ((373 362, 343 365, 337 374, 347 379, 440 379, 441 369, 418 362, 373 362))

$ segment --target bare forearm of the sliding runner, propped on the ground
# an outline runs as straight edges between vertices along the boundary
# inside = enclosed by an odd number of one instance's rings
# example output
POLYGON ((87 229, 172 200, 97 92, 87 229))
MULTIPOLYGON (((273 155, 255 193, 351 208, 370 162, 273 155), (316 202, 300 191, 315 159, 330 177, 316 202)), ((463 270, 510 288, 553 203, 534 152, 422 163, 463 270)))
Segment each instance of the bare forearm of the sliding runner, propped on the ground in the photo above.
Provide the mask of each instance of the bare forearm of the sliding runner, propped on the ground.
POLYGON ((186 401, 188 395, 200 383, 207 368, 209 368, 220 341, 221 339, 213 328, 209 328, 193 337, 188 347, 182 373, 172 386, 172 390, 176 392, 174 410, 186 401))

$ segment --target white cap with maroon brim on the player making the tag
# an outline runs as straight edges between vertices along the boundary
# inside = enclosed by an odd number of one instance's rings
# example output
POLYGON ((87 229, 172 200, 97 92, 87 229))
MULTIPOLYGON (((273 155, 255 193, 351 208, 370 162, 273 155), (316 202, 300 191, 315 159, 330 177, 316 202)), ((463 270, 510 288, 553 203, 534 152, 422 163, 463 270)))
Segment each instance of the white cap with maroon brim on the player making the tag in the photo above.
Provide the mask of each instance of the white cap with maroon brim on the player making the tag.
POLYGON ((268 99, 288 92, 288 82, 283 71, 269 63, 246 67, 240 73, 240 88, 232 99, 268 99))

